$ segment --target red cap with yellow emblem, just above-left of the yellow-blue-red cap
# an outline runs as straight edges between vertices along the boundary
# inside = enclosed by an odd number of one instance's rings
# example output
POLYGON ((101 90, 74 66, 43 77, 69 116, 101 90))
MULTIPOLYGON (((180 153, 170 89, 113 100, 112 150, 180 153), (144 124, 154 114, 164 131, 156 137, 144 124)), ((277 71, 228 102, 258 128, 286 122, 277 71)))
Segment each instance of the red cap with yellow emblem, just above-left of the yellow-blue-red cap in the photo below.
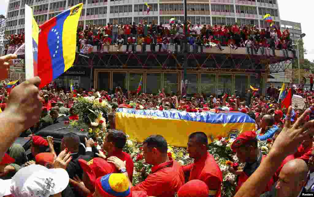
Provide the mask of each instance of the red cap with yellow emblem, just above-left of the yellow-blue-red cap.
POLYGON ((84 159, 79 159, 78 162, 94 186, 97 178, 117 171, 115 165, 108 163, 106 160, 99 157, 96 157, 89 162, 84 159))

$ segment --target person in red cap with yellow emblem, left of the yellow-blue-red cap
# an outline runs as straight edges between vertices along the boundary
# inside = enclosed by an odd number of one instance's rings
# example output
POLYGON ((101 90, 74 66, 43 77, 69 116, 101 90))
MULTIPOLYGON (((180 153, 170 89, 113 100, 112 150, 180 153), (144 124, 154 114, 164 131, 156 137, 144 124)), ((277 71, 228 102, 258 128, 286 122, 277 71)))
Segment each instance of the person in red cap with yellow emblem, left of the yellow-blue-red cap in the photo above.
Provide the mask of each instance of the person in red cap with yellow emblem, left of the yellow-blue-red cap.
POLYGON ((89 162, 84 159, 78 159, 78 162, 83 169, 82 180, 78 178, 70 179, 70 183, 74 189, 82 196, 92 196, 95 192, 95 181, 97 178, 105 176, 113 172, 118 172, 116 167, 108 163, 102 158, 96 157, 89 162), (83 182, 84 184, 81 184, 83 182))

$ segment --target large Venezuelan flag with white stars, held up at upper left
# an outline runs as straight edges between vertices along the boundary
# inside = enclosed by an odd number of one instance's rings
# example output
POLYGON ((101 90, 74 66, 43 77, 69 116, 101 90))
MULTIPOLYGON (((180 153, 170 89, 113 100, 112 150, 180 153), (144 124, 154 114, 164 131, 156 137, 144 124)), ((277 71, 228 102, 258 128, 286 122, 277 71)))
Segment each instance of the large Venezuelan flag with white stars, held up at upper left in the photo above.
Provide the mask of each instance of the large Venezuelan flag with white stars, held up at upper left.
POLYGON ((73 6, 40 26, 38 67, 35 76, 41 77, 43 88, 73 66, 76 51, 76 32, 83 3, 73 6))

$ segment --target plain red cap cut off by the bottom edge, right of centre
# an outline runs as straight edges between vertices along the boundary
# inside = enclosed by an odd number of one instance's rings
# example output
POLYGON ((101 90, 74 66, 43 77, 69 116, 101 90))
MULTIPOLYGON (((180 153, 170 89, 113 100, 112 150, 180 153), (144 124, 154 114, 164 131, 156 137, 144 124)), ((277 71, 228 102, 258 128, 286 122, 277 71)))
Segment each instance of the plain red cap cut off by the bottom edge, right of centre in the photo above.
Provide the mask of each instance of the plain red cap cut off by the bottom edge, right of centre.
POLYGON ((182 185, 178 190, 178 197, 208 197, 208 186, 201 180, 195 179, 182 185))

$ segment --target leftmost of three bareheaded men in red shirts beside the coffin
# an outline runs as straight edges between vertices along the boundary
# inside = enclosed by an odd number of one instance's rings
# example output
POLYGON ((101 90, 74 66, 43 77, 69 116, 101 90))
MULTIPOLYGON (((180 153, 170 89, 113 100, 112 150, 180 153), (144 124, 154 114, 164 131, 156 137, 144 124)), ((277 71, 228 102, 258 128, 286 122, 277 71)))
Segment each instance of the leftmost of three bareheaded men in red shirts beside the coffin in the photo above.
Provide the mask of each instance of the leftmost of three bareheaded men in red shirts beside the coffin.
MULTIPOLYGON (((123 162, 126 162, 125 169, 127 171, 129 179, 132 182, 134 163, 129 154, 127 154, 126 152, 122 152, 122 149, 125 146, 126 142, 127 136, 122 131, 111 130, 106 134, 102 147, 107 152, 107 158, 115 156, 123 162)), ((98 154, 98 156, 104 158, 103 154, 98 154)))

